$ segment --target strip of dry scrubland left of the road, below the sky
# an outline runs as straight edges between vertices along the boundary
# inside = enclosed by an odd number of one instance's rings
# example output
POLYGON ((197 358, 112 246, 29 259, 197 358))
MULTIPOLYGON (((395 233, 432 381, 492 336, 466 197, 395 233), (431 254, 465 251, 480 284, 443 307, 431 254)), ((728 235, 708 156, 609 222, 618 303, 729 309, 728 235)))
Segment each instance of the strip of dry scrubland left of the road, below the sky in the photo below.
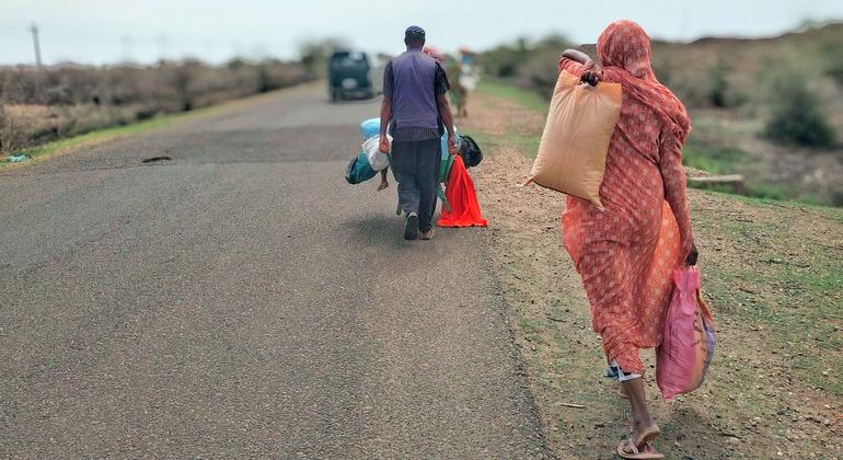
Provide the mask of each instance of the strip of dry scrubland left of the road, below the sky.
POLYGON ((311 79, 296 64, 0 68, 0 156, 311 79))

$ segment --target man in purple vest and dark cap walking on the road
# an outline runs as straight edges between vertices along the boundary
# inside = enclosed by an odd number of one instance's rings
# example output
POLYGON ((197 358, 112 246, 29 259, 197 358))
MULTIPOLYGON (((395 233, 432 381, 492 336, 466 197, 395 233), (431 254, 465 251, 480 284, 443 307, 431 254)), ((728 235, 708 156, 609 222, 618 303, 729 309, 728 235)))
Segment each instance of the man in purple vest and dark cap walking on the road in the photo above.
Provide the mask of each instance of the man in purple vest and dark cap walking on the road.
POLYGON ((399 181, 399 204, 405 214, 404 238, 415 240, 420 232, 423 240, 430 240, 446 129, 448 150, 457 153, 453 117, 446 99, 450 83, 439 62, 422 53, 422 27, 407 27, 404 44, 406 53, 392 59, 383 71, 380 149, 384 153, 391 151, 392 169, 399 181))

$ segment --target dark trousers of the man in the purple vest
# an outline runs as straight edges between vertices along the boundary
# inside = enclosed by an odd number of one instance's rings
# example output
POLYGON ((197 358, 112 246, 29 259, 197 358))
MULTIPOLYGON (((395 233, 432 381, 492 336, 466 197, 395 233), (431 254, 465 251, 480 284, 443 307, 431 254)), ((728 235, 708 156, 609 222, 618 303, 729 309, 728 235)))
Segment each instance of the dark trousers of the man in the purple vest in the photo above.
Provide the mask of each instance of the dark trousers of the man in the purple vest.
POLYGON ((439 184, 440 139, 392 142, 392 169, 399 181, 399 205, 418 214, 418 230, 432 227, 436 189, 439 184))

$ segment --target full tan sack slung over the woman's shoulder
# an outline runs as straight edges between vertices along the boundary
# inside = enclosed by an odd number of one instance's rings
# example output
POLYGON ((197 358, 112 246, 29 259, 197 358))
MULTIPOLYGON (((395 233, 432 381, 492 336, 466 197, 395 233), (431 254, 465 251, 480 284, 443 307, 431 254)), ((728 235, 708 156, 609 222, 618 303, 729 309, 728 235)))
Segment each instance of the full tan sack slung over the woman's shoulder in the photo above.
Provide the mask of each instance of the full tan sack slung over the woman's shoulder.
POLYGON ((547 123, 527 184, 593 203, 600 209, 609 140, 621 115, 621 85, 580 83, 566 70, 553 91, 547 123))

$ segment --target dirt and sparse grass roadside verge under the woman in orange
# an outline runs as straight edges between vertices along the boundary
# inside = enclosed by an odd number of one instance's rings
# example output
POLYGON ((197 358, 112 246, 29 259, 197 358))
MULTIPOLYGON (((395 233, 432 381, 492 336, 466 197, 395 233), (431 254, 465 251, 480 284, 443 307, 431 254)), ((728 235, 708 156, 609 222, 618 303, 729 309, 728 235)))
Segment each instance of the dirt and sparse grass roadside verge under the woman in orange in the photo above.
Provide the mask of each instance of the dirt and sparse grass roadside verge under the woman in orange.
MULTIPOLYGON (((562 458, 609 458, 628 406, 601 378, 579 277, 562 245, 561 194, 520 183, 542 114, 475 94, 461 120, 487 146, 473 171, 489 218, 493 264, 518 331, 547 438, 562 458), (565 404, 578 404, 576 409, 565 404)), ((649 399, 668 458, 836 458, 841 442, 843 212, 690 192, 706 295, 718 320, 704 387, 649 399)), ((653 353, 646 363, 655 370, 653 353)))

